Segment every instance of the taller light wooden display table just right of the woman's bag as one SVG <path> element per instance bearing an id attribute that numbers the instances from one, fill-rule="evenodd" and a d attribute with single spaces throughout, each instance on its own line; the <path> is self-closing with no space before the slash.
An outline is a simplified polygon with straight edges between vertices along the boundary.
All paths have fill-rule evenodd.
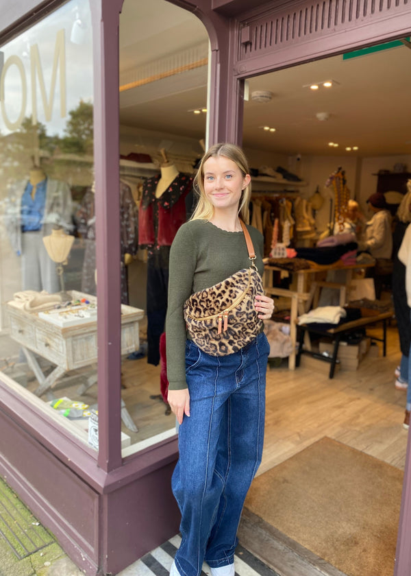
<path id="1" fill-rule="evenodd" d="M 277 267 L 272 264 L 264 265 L 263 285 L 266 294 L 270 294 L 271 296 L 282 296 L 284 298 L 291 299 L 290 337 L 292 341 L 292 353 L 288 357 L 288 368 L 290 368 L 290 370 L 295 370 L 295 359 L 297 354 L 297 317 L 305 312 L 308 312 L 311 309 L 313 303 L 314 307 L 316 307 L 316 302 L 319 298 L 319 291 L 321 287 L 325 286 L 338 289 L 340 291 L 340 306 L 345 306 L 349 293 L 349 285 L 353 278 L 353 271 L 361 268 L 370 268 L 373 266 L 374 264 L 345 265 L 342 261 L 339 260 L 332 264 L 326 265 L 312 262 L 310 263 L 309 268 L 294 271 L 282 267 Z M 345 283 L 327 282 L 326 280 L 318 279 L 320 273 L 323 274 L 329 270 L 347 270 Z M 284 289 L 273 286 L 273 271 L 296 274 L 296 289 Z M 308 289 L 308 280 L 310 280 L 310 289 Z"/>

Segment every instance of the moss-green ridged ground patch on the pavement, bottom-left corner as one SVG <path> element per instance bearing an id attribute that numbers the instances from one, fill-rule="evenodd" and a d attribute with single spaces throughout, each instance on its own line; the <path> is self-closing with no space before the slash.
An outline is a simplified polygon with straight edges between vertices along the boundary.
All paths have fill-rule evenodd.
<path id="1" fill-rule="evenodd" d="M 55 542 L 32 512 L 8 485 L 0 479 L 0 538 L 3 538 L 18 560 Z"/>

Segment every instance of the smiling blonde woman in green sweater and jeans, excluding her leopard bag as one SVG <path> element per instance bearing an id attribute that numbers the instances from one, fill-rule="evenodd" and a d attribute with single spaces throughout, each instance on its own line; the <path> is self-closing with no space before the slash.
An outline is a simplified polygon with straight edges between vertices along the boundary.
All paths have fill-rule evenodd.
<path id="1" fill-rule="evenodd" d="M 172 479 L 182 513 L 182 543 L 171 576 L 234 576 L 236 532 L 245 496 L 262 456 L 269 344 L 260 333 L 239 352 L 211 356 L 186 337 L 189 296 L 249 265 L 240 217 L 249 221 L 251 177 L 233 144 L 212 146 L 195 178 L 199 202 L 175 236 L 170 253 L 166 318 L 168 400 L 179 422 L 179 461 Z M 262 274 L 263 237 L 247 226 Z M 261 320 L 274 304 L 254 302 Z"/>

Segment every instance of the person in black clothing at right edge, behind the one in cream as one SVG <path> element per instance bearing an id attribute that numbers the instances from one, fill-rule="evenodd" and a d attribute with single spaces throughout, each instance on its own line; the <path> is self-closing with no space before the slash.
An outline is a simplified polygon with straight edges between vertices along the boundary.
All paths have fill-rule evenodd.
<path id="1" fill-rule="evenodd" d="M 411 188 L 411 180 L 408 180 Z M 395 387 L 399 390 L 408 388 L 408 356 L 411 344 L 411 322 L 410 307 L 407 302 L 406 292 L 406 267 L 398 257 L 399 248 L 403 237 L 411 222 L 411 191 L 403 197 L 397 211 L 397 224 L 393 232 L 393 302 L 397 328 L 399 335 L 399 346 L 401 348 L 401 362 L 395 370 Z"/>

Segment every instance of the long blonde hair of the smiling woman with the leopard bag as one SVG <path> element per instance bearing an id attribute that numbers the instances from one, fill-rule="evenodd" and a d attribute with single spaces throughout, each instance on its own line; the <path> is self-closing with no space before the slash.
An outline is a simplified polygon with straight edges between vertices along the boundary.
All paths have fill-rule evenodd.
<path id="1" fill-rule="evenodd" d="M 194 213 L 192 214 L 191 220 L 210 220 L 212 215 L 214 214 L 214 206 L 212 202 L 206 195 L 206 191 L 204 190 L 204 163 L 211 157 L 219 158 L 219 156 L 224 156 L 224 158 L 228 158 L 232 160 L 242 173 L 242 177 L 244 178 L 247 174 L 249 174 L 249 166 L 247 162 L 247 158 L 245 157 L 244 152 L 242 149 L 235 144 L 223 143 L 223 144 L 214 144 L 214 146 L 210 147 L 206 154 L 204 154 L 203 158 L 201 159 L 201 163 L 199 165 L 199 169 L 194 179 L 194 189 L 197 195 L 199 196 L 199 200 L 197 206 L 195 208 Z M 240 215 L 242 221 L 245 224 L 249 224 L 249 202 L 251 198 L 251 183 L 248 184 L 247 187 L 242 191 L 240 202 L 238 204 L 238 214 Z"/>

